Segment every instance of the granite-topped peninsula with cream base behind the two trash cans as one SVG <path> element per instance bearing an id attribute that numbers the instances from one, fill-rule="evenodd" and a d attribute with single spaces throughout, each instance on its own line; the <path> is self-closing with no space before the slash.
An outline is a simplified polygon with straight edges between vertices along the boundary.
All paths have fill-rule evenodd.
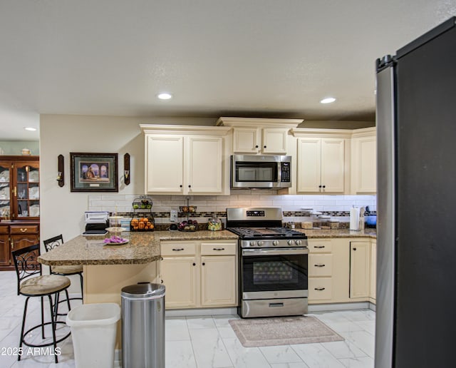
<path id="1" fill-rule="evenodd" d="M 128 235 L 125 235 L 128 234 Z M 185 240 L 237 240 L 237 235 L 222 231 L 127 232 L 128 243 L 105 245 L 104 236 L 77 237 L 43 253 L 43 265 L 83 265 L 84 303 L 115 302 L 120 305 L 123 287 L 138 282 L 160 283 L 160 242 Z M 117 347 L 121 346 L 118 322 Z"/>

